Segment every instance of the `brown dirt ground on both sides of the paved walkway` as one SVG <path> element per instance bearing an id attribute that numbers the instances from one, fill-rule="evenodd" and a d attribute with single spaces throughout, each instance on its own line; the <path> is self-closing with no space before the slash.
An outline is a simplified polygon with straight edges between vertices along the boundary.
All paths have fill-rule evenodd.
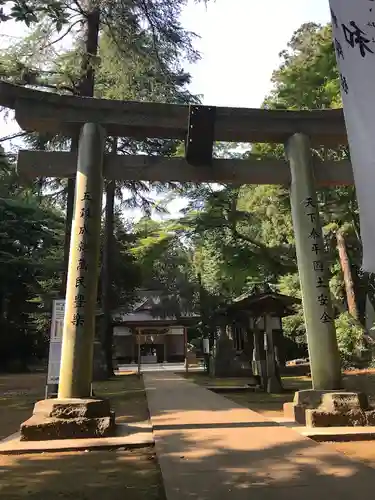
<path id="1" fill-rule="evenodd" d="M 213 385 L 211 378 L 192 373 L 189 378 Z M 346 375 L 350 386 L 375 398 L 375 372 Z M 283 379 L 281 395 L 242 392 L 227 395 L 232 401 L 270 418 L 282 415 L 282 406 L 294 392 L 308 388 L 307 377 Z M 217 379 L 217 385 L 242 385 L 246 379 Z M 45 375 L 0 375 L 0 439 L 16 432 L 32 412 L 34 402 L 43 398 Z M 122 375 L 96 383 L 97 396 L 111 399 L 118 421 L 148 419 L 143 383 L 135 375 Z M 375 468 L 375 441 L 325 443 L 352 459 Z M 162 478 L 153 449 L 113 450 L 39 455 L 0 456 L 0 498 L 7 500 L 165 500 Z"/>

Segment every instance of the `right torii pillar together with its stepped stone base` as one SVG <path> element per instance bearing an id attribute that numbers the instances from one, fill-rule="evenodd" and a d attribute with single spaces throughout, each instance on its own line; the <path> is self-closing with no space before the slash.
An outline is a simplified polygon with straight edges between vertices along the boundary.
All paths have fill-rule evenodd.
<path id="1" fill-rule="evenodd" d="M 309 427 L 369 425 L 372 412 L 361 393 L 342 390 L 341 363 L 329 290 L 310 140 L 294 134 L 286 144 L 298 272 L 309 347 L 312 390 L 284 405 L 287 418 Z"/>

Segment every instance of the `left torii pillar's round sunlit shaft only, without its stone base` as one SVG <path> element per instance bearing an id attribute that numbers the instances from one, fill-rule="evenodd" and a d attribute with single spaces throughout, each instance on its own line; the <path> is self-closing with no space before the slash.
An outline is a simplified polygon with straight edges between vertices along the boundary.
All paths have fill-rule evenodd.
<path id="1" fill-rule="evenodd" d="M 91 394 L 103 194 L 104 130 L 86 123 L 78 149 L 59 398 Z"/>

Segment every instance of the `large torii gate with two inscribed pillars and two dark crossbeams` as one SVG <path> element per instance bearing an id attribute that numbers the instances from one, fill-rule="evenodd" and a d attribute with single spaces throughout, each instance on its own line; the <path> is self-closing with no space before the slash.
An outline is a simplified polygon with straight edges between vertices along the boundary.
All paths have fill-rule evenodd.
<path id="1" fill-rule="evenodd" d="M 316 187 L 351 185 L 353 175 L 348 161 L 317 162 L 310 148 L 347 144 L 342 110 L 273 111 L 110 101 L 45 93 L 3 82 L 0 105 L 15 110 L 25 131 L 68 137 L 80 133 L 78 154 L 20 151 L 18 155 L 22 176 L 77 176 L 58 399 L 36 404 L 33 417 L 21 427 L 23 439 L 113 432 L 108 405 L 90 399 L 103 177 L 289 186 L 313 399 L 322 391 L 341 389 Z M 105 154 L 106 136 L 181 139 L 186 141 L 186 156 Z M 286 160 L 255 156 L 212 159 L 214 141 L 282 143 Z M 62 429 L 68 429 L 64 425 L 67 419 L 71 426 L 61 436 Z"/>

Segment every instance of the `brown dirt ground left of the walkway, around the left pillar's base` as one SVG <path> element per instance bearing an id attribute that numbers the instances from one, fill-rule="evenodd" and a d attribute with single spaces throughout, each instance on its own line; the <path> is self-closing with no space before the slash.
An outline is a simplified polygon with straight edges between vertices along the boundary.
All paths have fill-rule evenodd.
<path id="1" fill-rule="evenodd" d="M 0 375 L 0 436 L 17 432 L 44 395 L 44 374 Z M 111 400 L 119 422 L 148 419 L 143 382 L 121 375 L 94 384 L 96 396 Z M 165 500 L 153 449 L 0 455 L 0 498 L 4 500 Z"/>

